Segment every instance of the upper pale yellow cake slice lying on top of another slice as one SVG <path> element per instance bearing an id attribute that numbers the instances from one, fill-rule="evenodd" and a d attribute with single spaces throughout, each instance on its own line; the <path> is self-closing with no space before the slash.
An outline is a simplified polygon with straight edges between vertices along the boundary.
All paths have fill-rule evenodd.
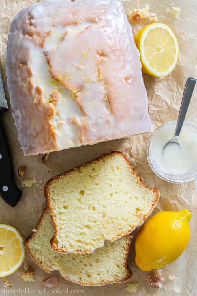
<path id="1" fill-rule="evenodd" d="M 111 152 L 49 180 L 45 196 L 57 252 L 89 253 L 144 222 L 159 192 L 149 189 L 122 152 Z"/>

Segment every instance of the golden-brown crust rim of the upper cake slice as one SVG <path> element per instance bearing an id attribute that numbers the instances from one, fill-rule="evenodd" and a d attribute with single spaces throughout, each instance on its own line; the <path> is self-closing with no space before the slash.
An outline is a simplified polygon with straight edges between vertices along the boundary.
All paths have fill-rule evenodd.
<path id="1" fill-rule="evenodd" d="M 137 227 L 141 226 L 141 224 L 144 223 L 144 220 L 152 213 L 152 211 L 154 210 L 154 207 L 157 205 L 157 202 L 159 200 L 159 190 L 157 188 L 149 188 L 143 181 L 143 179 L 139 176 L 139 174 L 136 172 L 136 170 L 133 168 L 133 166 L 131 165 L 131 163 L 129 162 L 128 158 L 126 157 L 126 155 L 121 152 L 121 151 L 112 151 L 108 154 L 105 154 L 101 157 L 98 157 L 94 160 L 91 160 L 83 165 L 79 165 L 77 166 L 76 168 L 73 168 L 71 170 L 68 170 L 64 173 L 61 173 L 59 174 L 58 176 L 55 176 L 53 178 L 51 178 L 50 180 L 48 180 L 48 182 L 45 184 L 45 188 L 44 188 L 44 194 L 45 194 L 45 197 L 46 197 L 46 201 L 47 201 L 47 204 L 48 204 L 48 207 L 49 207 L 49 211 L 51 213 L 51 219 L 52 219 L 52 222 L 53 222 L 53 226 L 54 226 L 54 229 L 55 229 L 55 235 L 54 237 L 51 238 L 51 248 L 55 251 L 55 252 L 58 252 L 58 253 L 68 253 L 70 252 L 70 250 L 63 250 L 62 247 L 58 247 L 57 244 L 58 244 L 58 240 L 56 239 L 56 234 L 57 234 L 57 227 L 56 227 L 56 222 L 55 222 L 55 218 L 53 217 L 53 210 L 51 208 L 51 203 L 50 203 L 50 196 L 49 196 L 49 186 L 51 185 L 51 183 L 54 181 L 54 180 L 58 180 L 59 178 L 62 178 L 64 176 L 68 176 L 72 173 L 74 173 L 76 170 L 79 170 L 79 169 L 82 169 L 84 168 L 86 165 L 89 165 L 91 163 L 96 163 L 98 160 L 100 159 L 105 159 L 107 158 L 108 156 L 110 155 L 120 155 L 122 157 L 124 157 L 124 159 L 126 160 L 127 164 L 129 165 L 129 167 L 131 168 L 131 171 L 133 174 L 136 175 L 136 177 L 138 178 L 140 184 L 144 187 L 146 187 L 147 189 L 149 189 L 150 191 L 152 191 L 154 193 L 154 200 L 153 200 L 153 203 L 152 203 L 152 207 L 150 208 L 150 211 L 144 215 L 144 219 L 141 221 L 141 223 L 139 223 L 138 225 L 136 225 L 135 227 L 132 227 L 131 229 L 128 229 L 128 231 L 125 231 L 122 234 L 120 234 L 119 236 L 116 236 L 114 237 L 111 241 L 115 241 L 116 239 L 124 236 L 124 235 L 127 235 L 129 233 L 131 233 L 134 229 L 136 229 Z M 72 251 L 72 253 L 80 253 L 80 254 L 84 254 L 84 253 L 88 253 L 88 254 L 91 254 L 92 252 L 90 252 L 90 250 L 85 250 L 85 251 L 81 251 L 81 250 L 77 250 L 76 252 Z"/>

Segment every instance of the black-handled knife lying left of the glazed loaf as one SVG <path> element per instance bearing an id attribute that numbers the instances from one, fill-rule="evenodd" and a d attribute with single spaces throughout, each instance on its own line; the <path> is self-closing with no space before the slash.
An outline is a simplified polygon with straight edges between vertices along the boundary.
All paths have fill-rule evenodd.
<path id="1" fill-rule="evenodd" d="M 0 73 L 0 195 L 4 202 L 15 207 L 21 199 L 22 191 L 15 183 L 12 155 L 3 123 L 3 114 L 8 110 Z"/>

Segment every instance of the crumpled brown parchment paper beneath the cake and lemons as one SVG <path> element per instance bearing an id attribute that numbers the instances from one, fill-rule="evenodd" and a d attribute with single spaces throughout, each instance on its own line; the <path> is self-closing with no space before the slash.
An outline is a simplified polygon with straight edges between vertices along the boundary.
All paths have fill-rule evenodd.
<path id="1" fill-rule="evenodd" d="M 1 73 L 6 88 L 6 97 L 9 99 L 7 86 L 6 86 L 6 43 L 7 33 L 9 31 L 10 22 L 12 18 L 23 7 L 35 3 L 36 0 L 1 0 L 0 1 L 0 59 L 1 59 Z M 39 2 L 39 1 L 37 1 Z M 129 9 L 144 6 L 150 4 L 151 12 L 158 14 L 159 22 L 164 22 L 170 25 L 175 35 L 177 36 L 180 46 L 180 58 L 175 70 L 169 76 L 165 78 L 154 78 L 144 74 L 144 83 L 146 86 L 148 100 L 149 100 L 149 113 L 152 119 L 153 128 L 157 128 L 160 124 L 175 120 L 178 116 L 178 110 L 183 94 L 186 78 L 196 75 L 196 53 L 197 53 L 197 33 L 196 33 L 196 13 L 197 3 L 193 0 L 181 0 L 174 1 L 174 6 L 181 8 L 179 20 L 175 20 L 173 16 L 166 14 L 166 8 L 170 7 L 172 0 L 145 0 L 140 1 L 122 1 L 123 6 L 128 13 Z M 132 24 L 133 34 L 135 34 L 144 25 L 147 25 L 149 21 L 140 21 L 137 24 Z M 191 104 L 188 110 L 187 120 L 194 124 L 197 124 L 197 88 Z M 11 112 L 4 115 L 5 126 L 9 135 L 10 146 L 12 149 L 12 155 L 14 159 L 14 169 L 16 173 L 16 180 L 18 186 L 20 186 L 20 180 L 17 175 L 18 168 L 20 166 L 27 166 L 25 178 L 36 178 L 40 186 L 33 186 L 32 188 L 23 189 L 23 196 L 21 202 L 15 207 L 11 208 L 0 200 L 0 223 L 6 223 L 16 227 L 23 237 L 26 238 L 32 233 L 32 229 L 38 222 L 38 219 L 42 213 L 45 197 L 43 194 L 43 188 L 46 181 L 62 173 L 66 170 L 81 165 L 89 160 L 104 155 L 111 150 L 123 151 L 130 160 L 133 167 L 138 171 L 141 177 L 149 187 L 157 187 L 160 192 L 159 203 L 156 206 L 153 214 L 163 210 L 180 210 L 189 208 L 192 212 L 191 226 L 191 239 L 188 247 L 183 254 L 169 266 L 162 268 L 162 274 L 165 278 L 163 287 L 161 289 L 155 289 L 149 287 L 146 276 L 147 272 L 141 271 L 134 263 L 134 249 L 133 244 L 136 233 L 139 229 L 133 232 L 133 239 L 131 244 L 131 252 L 129 256 L 129 266 L 133 271 L 133 277 L 125 283 L 112 284 L 102 287 L 82 287 L 78 284 L 73 284 L 63 279 L 58 271 L 54 271 L 51 274 L 58 276 L 58 285 L 53 290 L 64 289 L 64 295 L 72 293 L 71 289 L 83 289 L 85 296 L 94 295 L 113 295 L 113 296 L 126 296 L 130 295 L 125 290 L 125 287 L 130 282 L 138 282 L 138 288 L 136 296 L 153 296 L 153 295 L 191 295 L 197 294 L 197 198 L 195 192 L 194 182 L 190 182 L 182 185 L 170 184 L 159 179 L 149 168 L 146 160 L 146 144 L 151 133 L 132 136 L 127 139 L 115 140 L 111 142 L 100 143 L 96 145 L 88 145 L 80 148 L 71 148 L 61 152 L 51 153 L 48 161 L 44 165 L 41 161 L 41 155 L 39 156 L 23 156 L 19 142 L 17 140 L 17 131 L 14 126 L 14 120 Z M 0 168 L 2 169 L 2 168 Z M 21 276 L 15 272 L 7 278 L 12 281 L 12 289 L 43 289 L 41 281 L 51 275 L 45 273 L 40 267 L 34 263 L 28 254 L 26 254 L 25 261 L 35 271 L 35 282 L 29 283 L 23 281 Z M 19 268 L 22 271 L 24 264 Z M 175 275 L 177 280 L 170 281 L 168 275 Z M 0 295 L 4 295 L 5 292 L 1 290 L 2 284 L 0 281 Z M 178 287 L 181 289 L 179 294 L 176 294 L 172 289 Z M 11 288 L 8 288 L 11 289 Z M 41 295 L 41 292 L 26 290 L 26 294 Z M 25 294 L 23 292 L 23 295 Z M 56 295 L 56 291 L 51 295 Z M 78 292 L 79 294 L 80 292 Z M 13 293 L 12 293 L 13 294 Z M 22 295 L 22 292 L 18 290 L 15 295 Z M 134 295 L 134 294 L 132 294 Z"/>

